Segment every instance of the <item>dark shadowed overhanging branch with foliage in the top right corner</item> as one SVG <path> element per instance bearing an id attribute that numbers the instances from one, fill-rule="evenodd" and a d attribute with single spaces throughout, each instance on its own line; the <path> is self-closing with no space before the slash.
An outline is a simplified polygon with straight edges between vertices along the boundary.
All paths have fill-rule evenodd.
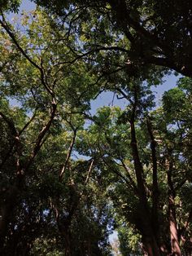
<path id="1" fill-rule="evenodd" d="M 97 48 L 101 33 L 105 38 L 111 37 L 111 30 L 107 29 L 107 23 L 110 23 L 113 33 L 123 34 L 128 40 L 121 51 L 127 51 L 129 65 L 138 64 L 141 68 L 146 64 L 155 64 L 191 77 L 190 0 L 186 0 L 185 4 L 181 0 L 35 2 L 64 19 L 72 13 L 71 20 L 79 19 L 78 23 L 87 21 L 88 17 L 88 24 L 94 21 L 92 50 L 95 46 Z M 102 46 L 106 44 L 107 39 Z M 111 42 L 111 46 L 114 45 L 116 42 Z"/>

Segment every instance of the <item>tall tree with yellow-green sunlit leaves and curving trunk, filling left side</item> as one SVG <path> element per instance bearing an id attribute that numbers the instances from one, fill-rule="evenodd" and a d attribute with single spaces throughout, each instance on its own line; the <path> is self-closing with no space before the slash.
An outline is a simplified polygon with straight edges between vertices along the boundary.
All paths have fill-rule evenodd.
<path id="1" fill-rule="evenodd" d="M 104 201 L 94 200 L 97 184 L 88 184 L 93 160 L 72 159 L 76 133 L 98 90 L 91 66 L 73 64 L 68 42 L 74 38 L 63 47 L 60 33 L 68 29 L 52 29 L 41 10 L 24 13 L 18 27 L 3 13 L 0 23 L 1 254 L 28 255 L 38 245 L 47 251 L 51 241 L 53 252 L 105 255 L 111 218 Z"/>

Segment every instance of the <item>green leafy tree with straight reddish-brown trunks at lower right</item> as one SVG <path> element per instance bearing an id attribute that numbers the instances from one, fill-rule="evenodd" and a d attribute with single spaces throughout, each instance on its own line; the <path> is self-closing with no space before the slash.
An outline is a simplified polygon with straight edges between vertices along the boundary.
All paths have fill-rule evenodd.
<path id="1" fill-rule="evenodd" d="M 90 138 L 89 147 L 93 144 L 88 155 L 101 157 L 103 179 L 112 184 L 110 196 L 119 219 L 124 219 L 127 234 L 132 227 L 142 236 L 140 243 L 146 254 L 188 255 L 190 247 L 185 251 L 182 234 L 186 226 L 186 233 L 190 232 L 186 223 L 191 214 L 181 205 L 185 205 L 182 195 L 189 189 L 191 170 L 181 138 L 190 139 L 183 105 L 188 109 L 191 105 L 190 91 L 186 90 L 190 81 L 185 84 L 181 79 L 178 88 L 164 95 L 164 108 L 154 112 L 149 112 L 153 102 L 150 90 L 137 82 L 134 79 L 121 91 L 129 101 L 124 111 L 109 107 L 99 110 L 94 126 L 85 135 L 86 141 L 86 136 Z M 82 150 L 86 153 L 88 148 Z"/>

